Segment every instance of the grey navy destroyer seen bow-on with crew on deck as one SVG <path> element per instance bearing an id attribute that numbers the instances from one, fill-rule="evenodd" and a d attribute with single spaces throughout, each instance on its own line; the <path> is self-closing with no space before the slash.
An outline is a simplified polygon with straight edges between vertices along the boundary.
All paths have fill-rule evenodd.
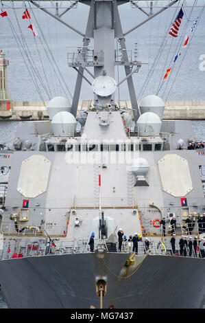
<path id="1" fill-rule="evenodd" d="M 62 22 L 78 1 L 56 15 L 28 2 Z M 119 16 L 129 1 L 80 2 L 90 8 L 86 32 L 63 21 L 83 38 L 68 55 L 73 101 L 52 98 L 49 120 L 20 122 L 12 148 L 1 145 L 1 173 L 10 174 L 0 197 L 5 301 L 16 309 L 203 308 L 204 145 L 191 121 L 162 119 L 159 96 L 138 106 L 132 76 L 142 63 L 128 55 L 125 36 L 142 23 L 123 32 Z M 149 12 L 130 2 L 143 23 L 180 10 L 178 0 L 155 13 L 152 1 Z M 77 111 L 83 79 L 94 99 Z M 130 107 L 114 97 L 122 82 Z"/>

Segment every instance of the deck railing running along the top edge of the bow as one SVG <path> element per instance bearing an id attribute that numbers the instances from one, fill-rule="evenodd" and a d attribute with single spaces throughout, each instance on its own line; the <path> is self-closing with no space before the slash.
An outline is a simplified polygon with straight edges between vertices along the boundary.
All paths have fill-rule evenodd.
<path id="1" fill-rule="evenodd" d="M 0 259 L 10 258 L 25 258 L 34 256 L 53 256 L 64 254 L 85 254 L 91 253 L 90 246 L 88 245 L 89 238 L 74 239 L 67 241 L 60 241 L 60 239 L 39 239 L 38 241 L 22 240 L 16 241 L 16 243 L 4 245 L 0 250 Z M 99 249 L 109 252 L 106 239 L 95 239 L 94 252 Z M 118 243 L 116 244 L 116 250 L 119 252 Z M 121 253 L 129 254 L 132 252 L 132 245 L 128 241 L 123 241 Z M 149 248 L 146 249 L 145 242 L 138 242 L 138 255 L 141 254 L 150 255 L 163 255 L 163 256 L 187 256 L 187 257 L 200 257 L 205 259 L 205 250 L 198 248 L 195 250 L 193 247 L 191 250 L 189 247 L 184 246 L 183 251 L 180 252 L 180 246 L 176 243 L 176 250 L 173 253 L 173 249 L 170 243 L 162 243 L 151 241 Z"/>

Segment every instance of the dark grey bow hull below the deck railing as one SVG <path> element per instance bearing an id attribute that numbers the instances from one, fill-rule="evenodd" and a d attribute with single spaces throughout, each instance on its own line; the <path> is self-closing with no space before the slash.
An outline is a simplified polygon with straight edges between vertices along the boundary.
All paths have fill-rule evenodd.
<path id="1" fill-rule="evenodd" d="M 1 260 L 9 308 L 99 308 L 96 278 L 106 276 L 104 309 L 200 309 L 205 306 L 204 259 L 147 256 L 129 278 L 119 278 L 127 254 L 70 254 Z M 105 265 L 106 264 L 106 265 Z M 132 275 L 131 275 L 132 274 Z"/>

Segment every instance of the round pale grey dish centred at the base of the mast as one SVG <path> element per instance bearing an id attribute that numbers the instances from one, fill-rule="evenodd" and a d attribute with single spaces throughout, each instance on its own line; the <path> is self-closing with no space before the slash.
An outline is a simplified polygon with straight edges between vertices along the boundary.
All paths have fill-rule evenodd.
<path id="1" fill-rule="evenodd" d="M 97 96 L 111 96 L 117 89 L 114 78 L 107 75 L 98 76 L 92 83 L 92 89 Z"/>

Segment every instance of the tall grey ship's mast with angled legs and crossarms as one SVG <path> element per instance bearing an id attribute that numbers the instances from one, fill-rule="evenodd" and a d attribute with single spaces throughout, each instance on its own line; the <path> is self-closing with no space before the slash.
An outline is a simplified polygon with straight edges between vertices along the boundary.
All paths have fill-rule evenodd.
<path id="1" fill-rule="evenodd" d="M 77 71 L 77 80 L 75 82 L 75 91 L 73 95 L 71 113 L 73 113 L 73 115 L 76 117 L 77 106 L 80 100 L 82 79 L 84 78 L 88 82 L 88 84 L 91 85 L 91 82 L 84 76 L 84 71 L 87 71 L 88 74 L 90 74 L 90 76 L 92 76 L 93 78 L 97 78 L 103 73 L 106 73 L 107 76 L 110 76 L 111 78 L 115 79 L 115 67 L 123 66 L 125 69 L 125 78 L 121 82 L 124 82 L 126 80 L 128 84 L 134 121 L 136 122 L 140 115 L 140 112 L 138 109 L 136 92 L 134 89 L 134 82 L 132 76 L 134 72 L 137 72 L 138 69 L 141 67 L 141 63 L 135 59 L 132 60 L 132 57 L 130 58 L 128 56 L 128 52 L 125 46 L 125 36 L 136 30 L 144 23 L 147 23 L 147 21 L 154 18 L 156 15 L 167 10 L 167 8 L 170 8 L 172 5 L 175 5 L 179 0 L 167 0 L 168 4 L 165 6 L 162 6 L 161 4 L 158 5 L 158 3 L 167 3 L 167 1 L 156 1 L 156 8 L 160 8 L 160 10 L 158 10 L 155 13 L 153 12 L 153 1 L 141 1 L 146 5 L 142 8 L 142 6 L 140 7 L 138 5 L 138 1 L 133 0 L 75 0 L 71 1 L 71 5 L 69 5 L 61 13 L 59 12 L 58 5 L 56 5 L 54 8 L 54 10 L 56 10 L 55 14 L 51 13 L 50 10 L 43 8 L 42 3 L 47 0 L 40 1 L 40 4 L 36 3 L 36 1 L 34 0 L 28 1 L 40 10 L 43 10 L 43 12 L 45 12 L 46 14 L 52 16 L 53 19 L 58 20 L 60 23 L 66 25 L 71 30 L 73 30 L 73 32 L 76 32 L 77 34 L 80 34 L 83 37 L 83 46 L 80 52 L 69 53 L 72 54 L 72 59 L 68 59 L 69 66 L 73 67 L 73 69 Z M 78 2 L 84 3 L 85 5 L 88 5 L 90 7 L 88 21 L 86 25 L 86 32 L 82 32 L 79 29 L 67 23 L 67 21 L 62 20 L 62 16 L 69 10 L 76 8 Z M 123 5 L 124 3 L 130 3 L 132 5 L 132 8 L 141 10 L 141 12 L 143 12 L 146 15 L 146 19 L 144 21 L 138 23 L 138 25 L 135 25 L 126 32 L 123 32 L 118 10 L 119 5 Z M 145 8 L 148 8 L 149 12 L 147 12 Z M 94 45 L 93 54 L 91 54 L 91 49 L 88 48 L 91 39 L 93 39 Z M 116 52 L 114 47 L 115 39 L 117 39 L 120 44 L 120 55 Z M 80 56 L 81 59 L 79 60 Z M 93 74 L 88 70 L 89 67 L 92 67 L 94 69 Z M 133 67 L 135 68 L 134 71 L 132 71 Z M 121 82 L 119 82 L 119 85 L 121 84 Z M 96 95 L 94 95 L 94 101 L 95 105 L 97 105 L 98 99 Z M 114 93 L 112 93 L 112 96 L 110 98 L 110 105 L 115 106 Z"/>

